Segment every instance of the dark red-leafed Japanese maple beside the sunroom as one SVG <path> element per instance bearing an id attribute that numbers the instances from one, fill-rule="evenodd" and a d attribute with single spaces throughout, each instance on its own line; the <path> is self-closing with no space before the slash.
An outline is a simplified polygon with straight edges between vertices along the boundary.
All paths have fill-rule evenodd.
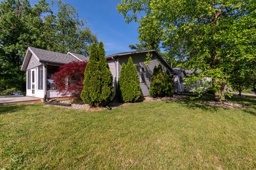
<path id="1" fill-rule="evenodd" d="M 54 73 L 54 83 L 61 96 L 80 98 L 84 84 L 84 70 L 87 62 L 71 62 L 60 66 L 60 71 Z"/>

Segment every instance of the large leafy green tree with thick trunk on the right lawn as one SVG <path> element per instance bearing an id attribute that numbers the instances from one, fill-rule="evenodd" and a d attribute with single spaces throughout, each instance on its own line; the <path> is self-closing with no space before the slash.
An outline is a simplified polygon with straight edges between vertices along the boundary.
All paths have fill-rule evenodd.
<path id="1" fill-rule="evenodd" d="M 141 43 L 158 43 L 170 57 L 185 61 L 183 68 L 202 70 L 191 74 L 187 83 L 212 78 L 217 101 L 225 100 L 237 62 L 255 69 L 255 8 L 254 0 L 122 0 L 117 6 L 126 22 L 139 23 Z"/>

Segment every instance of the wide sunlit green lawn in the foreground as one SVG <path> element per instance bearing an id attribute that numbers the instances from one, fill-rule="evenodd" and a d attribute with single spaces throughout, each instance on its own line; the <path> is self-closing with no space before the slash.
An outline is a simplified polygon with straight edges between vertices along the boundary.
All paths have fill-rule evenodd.
<path id="1" fill-rule="evenodd" d="M 249 107 L 0 105 L 0 169 L 255 169 L 256 98 L 231 100 Z"/>

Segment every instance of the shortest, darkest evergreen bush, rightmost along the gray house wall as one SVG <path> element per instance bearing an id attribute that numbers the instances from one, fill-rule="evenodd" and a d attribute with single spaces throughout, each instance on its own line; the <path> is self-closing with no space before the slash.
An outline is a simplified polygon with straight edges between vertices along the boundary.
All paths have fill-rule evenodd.
<path id="1" fill-rule="evenodd" d="M 154 67 L 150 79 L 149 94 L 151 97 L 164 97 L 173 95 L 173 82 L 169 71 L 163 72 L 161 64 Z"/>

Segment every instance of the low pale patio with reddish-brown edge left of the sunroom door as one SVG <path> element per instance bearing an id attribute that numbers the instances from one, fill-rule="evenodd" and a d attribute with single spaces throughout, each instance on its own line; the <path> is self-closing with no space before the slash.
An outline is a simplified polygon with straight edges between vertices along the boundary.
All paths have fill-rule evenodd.
<path id="1" fill-rule="evenodd" d="M 0 104 L 22 104 L 22 103 L 39 103 L 40 99 L 36 97 L 3 97 L 0 98 Z"/>

